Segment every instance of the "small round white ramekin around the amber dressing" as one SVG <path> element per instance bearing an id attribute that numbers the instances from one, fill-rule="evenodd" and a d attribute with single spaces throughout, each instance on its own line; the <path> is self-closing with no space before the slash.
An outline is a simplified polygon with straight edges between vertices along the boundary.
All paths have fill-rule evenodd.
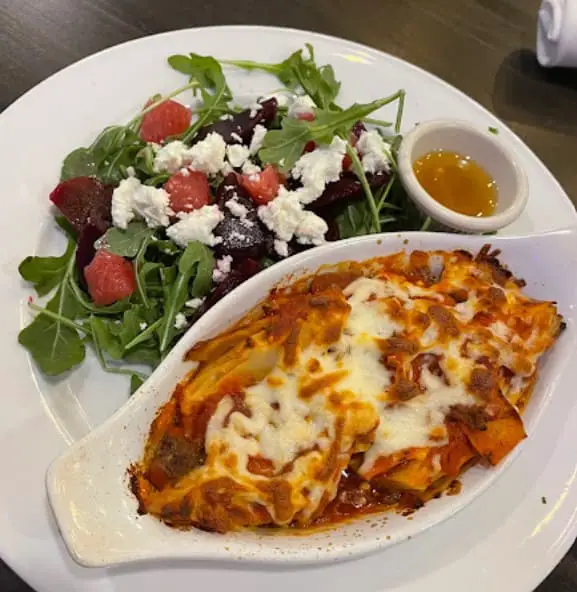
<path id="1" fill-rule="evenodd" d="M 459 214 L 425 191 L 413 171 L 413 163 L 433 150 L 469 156 L 487 171 L 497 184 L 498 201 L 493 214 Z M 460 232 L 495 232 L 514 222 L 527 203 L 527 176 L 515 157 L 488 129 L 464 121 L 439 119 L 418 124 L 403 138 L 397 164 L 401 181 L 417 207 L 436 222 Z"/>

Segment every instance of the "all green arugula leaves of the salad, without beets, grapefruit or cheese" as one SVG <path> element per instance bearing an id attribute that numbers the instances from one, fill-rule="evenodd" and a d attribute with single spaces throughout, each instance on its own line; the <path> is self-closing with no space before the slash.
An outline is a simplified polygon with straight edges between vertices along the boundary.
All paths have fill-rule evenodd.
<path id="1" fill-rule="evenodd" d="M 341 238 L 430 227 L 431 221 L 423 218 L 397 181 L 395 163 L 402 139 L 403 90 L 342 108 L 336 102 L 341 83 L 332 66 L 316 63 L 310 44 L 279 63 L 219 62 L 210 56 L 190 53 L 170 56 L 168 64 L 187 76 L 188 83 L 167 95 L 152 97 L 126 125 L 107 127 L 88 147 L 70 152 L 62 163 L 62 181 L 92 176 L 118 185 L 130 172 L 145 185 L 162 186 L 170 175 L 155 170 L 156 147 L 139 136 L 142 118 L 164 101 L 190 91 L 198 103 L 192 107 L 192 123 L 179 138 L 172 138 L 190 145 L 201 128 L 238 112 L 231 106 L 233 94 L 223 73 L 224 64 L 268 72 L 278 78 L 284 91 L 304 93 L 314 102 L 312 121 L 288 117 L 286 109 L 279 108 L 277 119 L 254 157 L 258 164 L 274 164 L 288 173 L 308 143 L 329 144 L 335 136 L 347 143 L 351 169 L 361 183 L 365 199 L 348 203 L 336 217 Z M 394 121 L 379 119 L 375 112 L 392 103 L 397 105 Z M 389 144 L 391 177 L 379 190 L 371 188 L 370 178 L 351 144 L 352 129 L 359 121 L 376 126 Z M 496 133 L 493 128 L 490 131 Z M 214 187 L 220 179 L 219 176 L 214 180 Z M 65 219 L 57 217 L 56 222 L 68 240 L 64 252 L 59 256 L 26 257 L 19 266 L 22 278 L 31 283 L 39 298 L 47 297 L 48 301 L 44 307 L 30 301 L 35 316 L 20 332 L 19 342 L 49 376 L 58 376 L 81 364 L 86 348 L 90 347 L 104 371 L 130 377 L 133 392 L 146 379 L 146 371 L 160 363 L 198 317 L 199 313 L 187 302 L 205 297 L 213 289 L 213 252 L 196 241 L 183 249 L 167 238 L 164 229 L 148 228 L 139 219 L 124 230 L 109 228 L 97 247 L 131 262 L 136 290 L 129 298 L 98 306 L 87 293 L 76 266 L 77 237 Z M 274 259 L 261 258 L 262 267 L 273 264 Z"/>

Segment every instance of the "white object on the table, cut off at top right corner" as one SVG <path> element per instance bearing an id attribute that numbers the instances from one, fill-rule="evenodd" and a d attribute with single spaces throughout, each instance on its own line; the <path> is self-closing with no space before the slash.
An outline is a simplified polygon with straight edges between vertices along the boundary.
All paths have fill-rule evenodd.
<path id="1" fill-rule="evenodd" d="M 543 0 L 537 24 L 542 66 L 577 68 L 577 0 Z"/>

